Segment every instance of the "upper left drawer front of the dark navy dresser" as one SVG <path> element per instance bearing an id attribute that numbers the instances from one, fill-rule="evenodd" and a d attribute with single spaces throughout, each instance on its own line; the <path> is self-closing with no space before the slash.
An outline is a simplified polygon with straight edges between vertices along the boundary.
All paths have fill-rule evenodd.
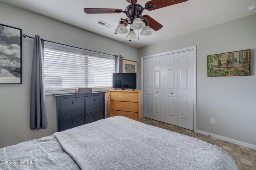
<path id="1" fill-rule="evenodd" d="M 60 119 L 84 114 L 84 97 L 60 99 Z"/>

